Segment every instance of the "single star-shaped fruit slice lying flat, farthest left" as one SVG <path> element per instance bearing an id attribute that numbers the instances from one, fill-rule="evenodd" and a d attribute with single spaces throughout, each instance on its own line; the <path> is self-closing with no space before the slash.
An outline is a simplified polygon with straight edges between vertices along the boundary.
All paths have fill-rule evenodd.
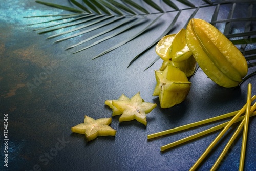
<path id="1" fill-rule="evenodd" d="M 84 116 L 84 123 L 71 127 L 74 133 L 85 134 L 88 141 L 95 139 L 97 136 L 115 136 L 116 130 L 109 126 L 112 118 L 93 119 Z"/>

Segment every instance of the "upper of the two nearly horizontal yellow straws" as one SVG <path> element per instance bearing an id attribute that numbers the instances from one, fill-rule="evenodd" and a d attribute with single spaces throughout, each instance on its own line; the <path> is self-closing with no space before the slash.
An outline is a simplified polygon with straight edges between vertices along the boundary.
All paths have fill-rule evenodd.
<path id="1" fill-rule="evenodd" d="M 256 95 L 254 95 L 251 98 L 251 101 L 254 101 L 255 99 L 256 99 Z M 243 108 L 246 108 L 246 105 L 244 105 Z M 186 125 L 183 125 L 183 126 L 175 127 L 173 129 L 169 129 L 169 130 L 161 131 L 161 132 L 158 132 L 158 133 L 150 134 L 150 135 L 147 135 L 147 139 L 156 138 L 156 137 L 164 136 L 164 135 L 167 135 L 167 134 L 176 133 L 176 132 L 179 132 L 179 131 L 190 129 L 192 127 L 196 127 L 196 126 L 200 126 L 200 125 L 203 125 L 203 124 L 206 124 L 206 123 L 210 123 L 210 122 L 218 121 L 218 120 L 221 120 L 221 119 L 225 119 L 225 118 L 236 115 L 238 112 L 239 111 L 234 111 L 234 112 L 230 112 L 230 113 L 220 115 L 220 116 L 216 116 L 216 117 L 213 117 L 213 118 L 209 118 L 209 119 L 201 120 L 201 121 L 198 121 L 198 122 L 189 123 L 189 124 L 186 124 Z"/>

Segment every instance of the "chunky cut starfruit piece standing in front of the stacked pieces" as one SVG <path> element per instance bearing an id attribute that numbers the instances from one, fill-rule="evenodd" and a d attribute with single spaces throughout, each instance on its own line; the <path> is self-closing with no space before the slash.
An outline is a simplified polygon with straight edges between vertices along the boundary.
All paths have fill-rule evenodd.
<path id="1" fill-rule="evenodd" d="M 164 71 L 155 71 L 156 87 L 153 95 L 159 95 L 161 108 L 170 108 L 184 101 L 191 82 L 179 68 L 168 65 Z"/>

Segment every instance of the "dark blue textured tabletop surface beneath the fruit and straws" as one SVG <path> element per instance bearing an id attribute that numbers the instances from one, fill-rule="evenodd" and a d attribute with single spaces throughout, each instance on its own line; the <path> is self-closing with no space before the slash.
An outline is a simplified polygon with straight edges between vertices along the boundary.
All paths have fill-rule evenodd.
<path id="1" fill-rule="evenodd" d="M 68 1 L 63 2 L 63 5 L 69 5 Z M 225 17 L 229 8 L 228 4 L 221 6 L 219 17 Z M 237 8 L 242 15 L 247 6 L 239 4 Z M 153 27 L 142 37 L 91 60 L 125 38 L 129 32 L 72 55 L 73 51 L 64 49 L 76 43 L 77 39 L 53 44 L 56 39 L 46 40 L 50 34 L 38 35 L 32 31 L 38 26 L 28 26 L 37 23 L 39 18 L 23 18 L 59 14 L 61 10 L 36 4 L 32 0 L 5 1 L 0 3 L 0 9 L 0 119 L 2 121 L 3 114 L 8 113 L 8 170 L 188 170 L 219 132 L 164 153 L 160 152 L 160 146 L 219 122 L 154 140 L 147 140 L 147 135 L 239 110 L 246 103 L 248 83 L 252 83 L 252 94 L 256 94 L 255 77 L 236 89 L 226 89 L 217 86 L 199 69 L 190 78 L 192 86 L 187 99 L 173 108 L 160 109 L 159 100 L 152 93 L 156 84 L 154 70 L 161 66 L 161 61 L 144 71 L 156 57 L 154 48 L 126 68 L 141 49 L 150 45 L 151 39 L 161 34 L 168 24 L 164 19 L 156 23 L 162 27 Z M 211 19 L 207 11 L 213 11 L 214 8 L 200 10 L 196 17 Z M 186 19 L 183 18 L 191 12 L 182 12 L 173 33 L 184 26 Z M 41 24 L 40 27 L 46 25 Z M 255 23 L 252 26 L 255 30 Z M 236 23 L 232 27 L 236 31 L 241 24 Z M 221 24 L 218 28 L 223 31 Z M 136 32 L 136 29 L 131 32 Z M 46 71 L 48 73 L 44 74 Z M 255 71 L 255 67 L 250 68 L 249 73 L 252 71 Z M 35 80 L 36 77 L 44 79 L 40 82 Z M 29 91 L 27 83 L 36 83 L 36 87 Z M 111 124 L 117 130 L 115 137 L 98 137 L 87 143 L 84 135 L 71 133 L 70 128 L 83 122 L 84 115 L 95 119 L 111 117 L 112 110 L 104 105 L 105 100 L 117 99 L 122 93 L 131 98 L 138 91 L 146 102 L 158 105 L 147 115 L 146 127 L 137 121 L 119 123 L 119 116 L 115 116 Z M 3 122 L 0 123 L 2 142 Z M 211 168 L 236 126 L 221 139 L 200 170 Z M 252 118 L 245 170 L 254 170 L 256 167 L 255 126 L 256 119 Z M 238 170 L 241 141 L 242 134 L 232 145 L 220 170 Z M 0 170 L 3 170 L 6 167 L 3 166 L 2 148 L 0 153 Z"/>

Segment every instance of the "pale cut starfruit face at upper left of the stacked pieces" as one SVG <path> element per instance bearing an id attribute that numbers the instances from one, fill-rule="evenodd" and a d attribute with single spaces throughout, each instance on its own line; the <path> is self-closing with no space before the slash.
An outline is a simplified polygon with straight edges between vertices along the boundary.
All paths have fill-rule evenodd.
<path id="1" fill-rule="evenodd" d="M 160 56 L 160 58 L 163 59 L 164 61 L 170 59 L 168 49 L 170 45 L 172 45 L 175 35 L 176 34 L 169 34 L 162 37 L 156 45 L 155 51 Z"/>

